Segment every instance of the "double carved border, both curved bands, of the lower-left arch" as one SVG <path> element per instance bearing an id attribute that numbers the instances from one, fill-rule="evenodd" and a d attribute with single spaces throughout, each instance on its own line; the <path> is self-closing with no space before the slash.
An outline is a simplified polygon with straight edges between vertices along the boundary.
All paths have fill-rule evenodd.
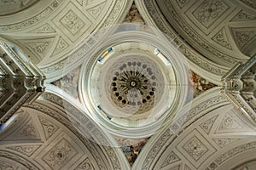
<path id="1" fill-rule="evenodd" d="M 100 141 L 100 144 L 105 145 L 102 145 L 100 147 L 102 150 L 106 150 L 106 153 L 108 153 L 107 160 L 109 161 L 109 165 L 111 165 L 111 167 L 113 167 L 114 169 L 120 169 L 121 167 L 129 166 L 125 160 L 125 156 L 122 155 L 121 150 L 114 149 L 108 146 L 110 145 L 108 139 L 109 136 L 107 137 L 106 134 L 102 132 L 100 127 L 96 127 L 97 125 L 95 124 L 95 122 L 91 120 L 90 117 L 85 116 L 79 106 L 74 106 L 72 103 L 66 100 L 67 98 L 65 98 L 65 95 L 64 99 L 59 97 L 59 95 L 60 94 L 56 95 L 45 92 L 40 97 L 41 99 L 38 99 L 32 105 L 26 105 L 26 107 L 44 112 L 45 114 L 52 116 L 53 118 L 55 118 L 55 120 L 58 120 L 71 132 L 73 132 L 83 142 L 84 146 L 86 146 L 87 149 L 90 150 L 90 153 L 98 153 L 92 154 L 92 156 L 94 156 L 100 169 L 106 169 L 108 167 L 108 164 L 106 164 L 106 162 L 102 160 L 102 157 L 100 157 L 102 154 L 97 151 L 95 146 L 96 144 L 93 144 L 96 141 Z M 54 108 L 56 108 L 56 106 L 57 108 L 61 109 L 58 111 L 61 114 L 55 114 Z M 72 114 L 70 114 L 71 111 Z M 81 129 L 76 128 L 79 127 L 79 125 L 82 126 Z M 87 136 L 84 136 L 85 133 L 87 133 Z M 112 142 L 115 141 L 113 140 Z"/>

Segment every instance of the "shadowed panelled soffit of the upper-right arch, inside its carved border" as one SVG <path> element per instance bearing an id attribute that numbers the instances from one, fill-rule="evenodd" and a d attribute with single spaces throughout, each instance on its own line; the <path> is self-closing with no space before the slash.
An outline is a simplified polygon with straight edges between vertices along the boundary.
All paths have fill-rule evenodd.
<path id="1" fill-rule="evenodd" d="M 218 65 L 227 66 L 248 58 L 241 53 L 239 46 L 241 36 L 247 37 L 243 43 L 246 41 L 247 45 L 251 43 L 249 39 L 253 38 L 253 29 L 255 30 L 255 18 L 253 18 L 255 11 L 244 8 L 236 1 L 171 2 L 165 0 L 156 1 L 156 3 L 166 21 L 172 23 L 169 25 L 206 58 Z M 241 17 L 242 14 L 244 14 L 243 17 Z M 246 33 L 248 30 L 252 35 L 249 36 Z M 244 45 L 241 44 L 242 47 Z"/>

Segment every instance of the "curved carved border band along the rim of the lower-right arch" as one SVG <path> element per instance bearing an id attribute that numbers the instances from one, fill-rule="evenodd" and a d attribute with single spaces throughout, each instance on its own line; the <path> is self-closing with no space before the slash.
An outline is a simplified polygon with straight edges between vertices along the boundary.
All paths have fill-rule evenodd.
<path id="1" fill-rule="evenodd" d="M 178 116 L 174 122 L 169 123 L 169 126 L 163 127 L 160 132 L 149 139 L 132 169 L 146 170 L 154 167 L 160 155 L 165 151 L 163 148 L 172 144 L 180 133 L 210 111 L 228 104 L 228 101 L 219 94 L 219 88 L 209 89 L 206 93 L 201 94 L 201 98 L 195 98 L 194 101 L 191 108 L 190 105 L 185 105 L 183 112 L 187 112 L 186 114 Z"/>

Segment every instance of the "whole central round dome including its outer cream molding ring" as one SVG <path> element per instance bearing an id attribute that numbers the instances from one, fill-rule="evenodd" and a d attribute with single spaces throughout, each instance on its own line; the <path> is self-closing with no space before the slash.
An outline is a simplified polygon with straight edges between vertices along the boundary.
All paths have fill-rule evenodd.
<path id="1" fill-rule="evenodd" d="M 186 60 L 175 43 L 148 26 L 120 25 L 88 37 L 79 97 L 108 132 L 147 138 L 189 101 Z M 91 42 L 91 41 L 90 41 Z"/>

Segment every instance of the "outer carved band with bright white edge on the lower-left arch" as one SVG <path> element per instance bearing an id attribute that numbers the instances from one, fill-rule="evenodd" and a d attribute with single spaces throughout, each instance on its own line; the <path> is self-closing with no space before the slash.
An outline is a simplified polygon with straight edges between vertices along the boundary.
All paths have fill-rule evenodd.
<path id="1" fill-rule="evenodd" d="M 46 93 L 42 95 L 42 98 L 49 101 L 51 105 L 59 105 L 59 107 L 61 107 L 61 110 L 63 111 L 62 114 L 66 115 L 66 117 L 67 114 L 69 115 L 68 118 L 71 120 L 71 122 L 63 121 L 61 123 L 66 123 L 65 126 L 70 127 L 70 130 L 72 129 L 72 132 L 75 133 L 81 141 L 84 141 L 85 138 L 88 142 L 90 142 L 91 144 L 94 143 L 94 146 L 102 150 L 101 156 L 103 156 L 103 159 L 108 160 L 107 166 L 113 169 L 129 167 L 129 164 L 125 156 L 123 155 L 123 152 L 119 148 L 111 147 L 111 144 L 117 145 L 115 144 L 116 140 L 113 139 L 113 137 L 110 136 L 108 132 L 104 131 L 102 127 L 99 127 L 97 123 L 90 118 L 90 116 L 87 116 L 86 113 L 84 113 L 84 107 L 79 108 L 79 105 L 77 104 L 77 101 L 75 99 L 69 100 L 68 95 L 66 96 L 66 94 L 62 94 L 61 90 L 59 90 L 58 88 L 54 90 L 49 88 L 49 91 L 46 91 Z M 55 106 L 49 107 L 49 105 L 47 105 L 46 108 L 47 107 L 55 108 Z M 77 129 L 75 129 L 72 123 L 76 123 L 75 127 L 79 127 L 80 125 L 82 125 L 82 129 L 79 129 L 83 131 L 82 134 L 78 133 Z M 89 136 L 83 136 L 88 135 L 88 133 L 90 133 Z M 88 140 L 89 138 L 90 140 Z M 97 142 L 98 144 L 96 144 Z M 90 153 L 93 154 L 94 151 L 90 150 Z"/>

